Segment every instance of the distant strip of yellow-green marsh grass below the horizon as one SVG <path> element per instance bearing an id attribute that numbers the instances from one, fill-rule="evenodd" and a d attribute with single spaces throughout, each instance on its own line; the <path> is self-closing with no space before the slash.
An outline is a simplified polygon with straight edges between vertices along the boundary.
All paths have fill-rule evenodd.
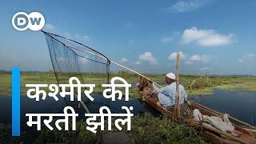
<path id="1" fill-rule="evenodd" d="M 67 83 L 70 76 L 78 76 L 77 74 L 62 74 L 62 83 Z M 112 73 L 110 78 L 119 76 L 128 83 L 136 83 L 139 81 L 139 76 L 136 74 L 128 74 L 126 72 Z M 158 82 L 160 86 L 166 86 L 164 74 L 146 74 L 147 77 Z M 101 83 L 106 82 L 104 74 L 83 74 L 82 78 L 86 83 L 96 84 L 94 93 L 101 94 L 103 88 Z M 227 76 L 208 76 L 208 75 L 180 75 L 180 83 L 185 87 L 188 95 L 207 95 L 212 94 L 214 88 L 223 90 L 248 90 L 256 91 L 256 77 L 227 77 Z M 54 72 L 22 72 L 21 74 L 21 92 L 26 95 L 26 84 L 57 84 Z M 42 90 L 49 91 L 47 88 Z M 11 94 L 11 74 L 0 73 L 0 95 L 10 96 Z M 130 97 L 138 98 L 136 87 L 130 88 Z"/>

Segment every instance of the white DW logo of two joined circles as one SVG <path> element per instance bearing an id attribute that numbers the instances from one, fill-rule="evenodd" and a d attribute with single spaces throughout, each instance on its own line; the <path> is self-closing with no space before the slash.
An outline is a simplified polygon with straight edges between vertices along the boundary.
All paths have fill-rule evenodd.
<path id="1" fill-rule="evenodd" d="M 30 14 L 18 12 L 14 14 L 14 17 L 12 18 L 14 29 L 19 31 L 24 31 L 27 29 L 33 31 L 41 30 L 45 25 L 45 22 L 46 21 L 43 15 L 38 12 L 32 12 Z"/>

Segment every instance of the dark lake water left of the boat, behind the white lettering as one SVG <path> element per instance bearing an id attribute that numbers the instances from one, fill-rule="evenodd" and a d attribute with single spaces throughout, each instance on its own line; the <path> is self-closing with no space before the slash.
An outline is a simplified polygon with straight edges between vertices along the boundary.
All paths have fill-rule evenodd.
<path id="1" fill-rule="evenodd" d="M 69 99 L 69 97 L 66 97 Z M 75 99 L 75 98 L 74 98 Z M 122 106 L 133 106 L 134 110 L 132 113 L 142 114 L 147 110 L 139 99 L 130 99 L 126 102 L 125 100 L 118 100 L 112 102 L 110 99 L 103 98 L 102 96 L 94 96 L 94 102 L 86 101 L 83 99 L 83 102 L 86 103 L 86 106 L 90 110 L 90 113 L 98 113 L 98 110 L 101 106 L 108 106 L 111 110 L 111 113 L 125 113 L 125 110 L 122 110 Z M 59 97 L 58 101 L 55 101 L 54 98 L 46 97 L 46 100 L 40 99 L 36 102 L 34 99 L 30 99 L 26 96 L 21 97 L 21 123 L 26 124 L 28 118 L 26 114 L 37 114 L 37 113 L 53 113 L 61 114 L 63 113 L 63 108 L 65 106 L 72 106 L 77 114 L 79 114 L 78 120 L 84 118 L 86 113 L 83 107 L 78 108 L 78 102 L 70 102 L 64 100 L 64 98 Z M 0 96 L 0 123 L 11 123 L 11 97 Z"/>

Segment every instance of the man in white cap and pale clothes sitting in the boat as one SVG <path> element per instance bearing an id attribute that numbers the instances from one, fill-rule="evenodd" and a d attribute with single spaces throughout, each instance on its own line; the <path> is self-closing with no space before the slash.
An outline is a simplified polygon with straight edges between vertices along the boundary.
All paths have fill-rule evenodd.
<path id="1" fill-rule="evenodd" d="M 154 90 L 158 93 L 158 104 L 162 106 L 169 107 L 174 106 L 175 104 L 175 97 L 176 97 L 176 77 L 175 74 L 169 73 L 166 74 L 166 83 L 168 86 L 158 88 L 155 83 L 153 83 Z M 187 99 L 186 90 L 184 86 L 179 84 L 179 104 L 181 105 Z"/>

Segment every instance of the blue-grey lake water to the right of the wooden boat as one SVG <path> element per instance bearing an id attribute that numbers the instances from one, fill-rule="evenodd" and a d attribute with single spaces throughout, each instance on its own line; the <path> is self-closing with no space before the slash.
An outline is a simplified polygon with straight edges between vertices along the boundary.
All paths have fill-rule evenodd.
<path id="1" fill-rule="evenodd" d="M 256 93 L 215 89 L 213 94 L 190 97 L 195 102 L 256 125 Z"/>

